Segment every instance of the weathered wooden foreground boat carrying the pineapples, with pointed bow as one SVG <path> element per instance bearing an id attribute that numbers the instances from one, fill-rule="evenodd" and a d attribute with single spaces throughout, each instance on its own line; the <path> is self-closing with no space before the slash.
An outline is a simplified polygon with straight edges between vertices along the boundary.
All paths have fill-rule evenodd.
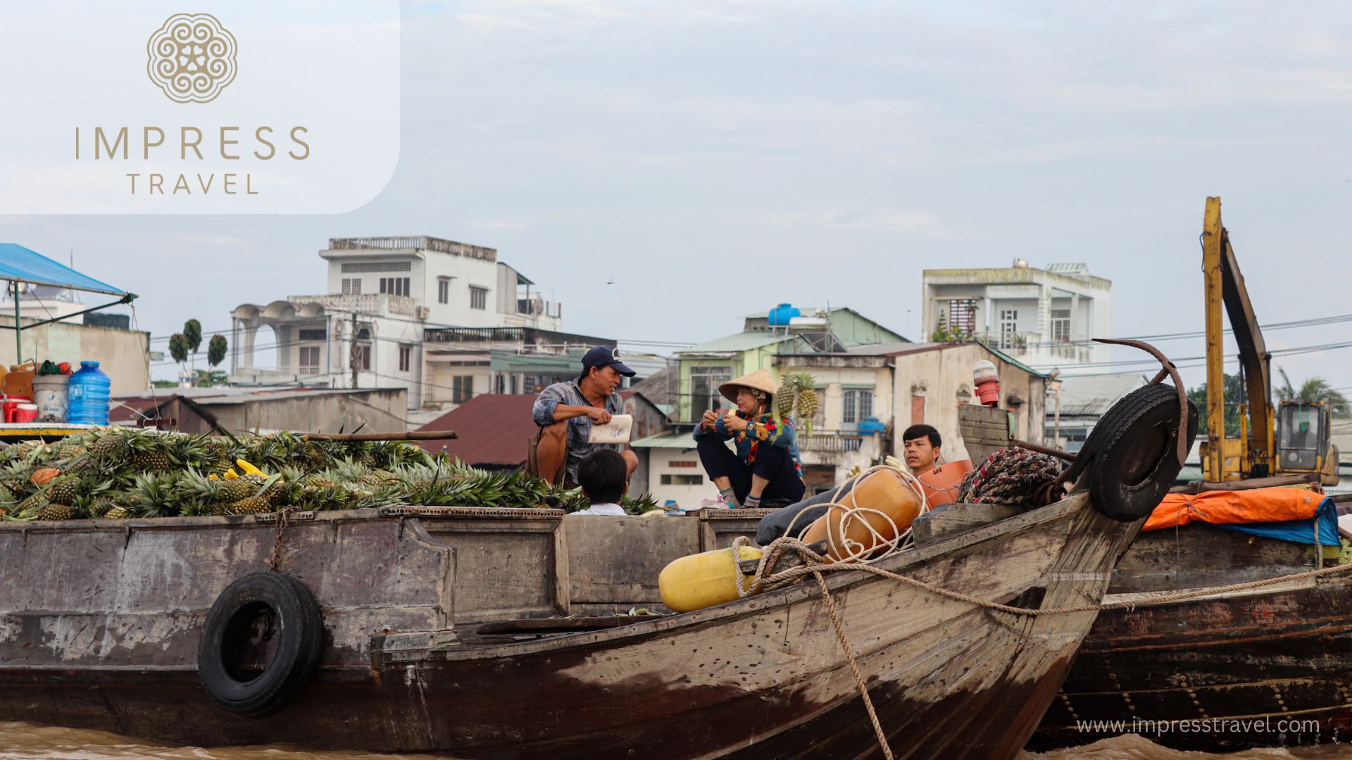
<path id="1" fill-rule="evenodd" d="M 681 615 L 623 615 L 657 606 L 667 561 L 726 546 L 758 517 L 403 507 L 300 515 L 284 530 L 260 517 L 7 523 L 0 714 L 206 746 L 876 756 L 815 583 Z M 1138 526 L 1080 494 L 883 567 L 1018 607 L 1094 604 Z M 218 595 L 270 560 L 314 592 L 323 646 L 299 696 L 251 718 L 208 699 L 199 638 Z M 1095 617 L 1018 617 L 857 571 L 829 587 L 904 757 L 1014 756 Z M 480 625 L 503 619 L 516 622 Z M 241 646 L 258 644 L 258 630 Z M 246 649 L 235 667 L 266 663 Z"/>

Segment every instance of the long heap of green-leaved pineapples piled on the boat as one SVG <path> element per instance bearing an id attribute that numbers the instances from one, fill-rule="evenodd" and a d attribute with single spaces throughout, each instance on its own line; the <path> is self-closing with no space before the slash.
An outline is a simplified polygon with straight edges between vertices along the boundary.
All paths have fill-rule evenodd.
<path id="1" fill-rule="evenodd" d="M 207 437 L 97 427 L 0 450 L 0 518 L 247 515 L 397 504 L 587 507 L 576 490 L 518 472 L 485 472 L 395 441 L 291 433 Z M 626 499 L 633 514 L 657 508 Z"/>

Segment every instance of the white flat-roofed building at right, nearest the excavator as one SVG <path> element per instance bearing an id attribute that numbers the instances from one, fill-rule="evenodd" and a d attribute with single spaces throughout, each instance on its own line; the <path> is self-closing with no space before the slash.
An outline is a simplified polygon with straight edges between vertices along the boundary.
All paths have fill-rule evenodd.
<path id="1" fill-rule="evenodd" d="M 1038 369 L 1109 361 L 1088 342 L 1113 334 L 1113 283 L 1083 264 L 1034 269 L 926 269 L 921 330 L 933 341 L 976 338 Z"/>

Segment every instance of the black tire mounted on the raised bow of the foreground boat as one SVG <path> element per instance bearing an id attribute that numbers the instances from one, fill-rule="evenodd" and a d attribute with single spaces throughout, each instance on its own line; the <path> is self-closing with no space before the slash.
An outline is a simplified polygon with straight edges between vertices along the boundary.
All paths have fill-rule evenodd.
<path id="1" fill-rule="evenodd" d="M 1179 396 L 1174 385 L 1137 388 L 1113 404 L 1094 426 L 1071 477 L 1087 472 L 1090 498 L 1105 515 L 1130 522 L 1149 515 L 1183 468 L 1178 461 Z M 1187 403 L 1187 445 L 1198 415 Z"/>

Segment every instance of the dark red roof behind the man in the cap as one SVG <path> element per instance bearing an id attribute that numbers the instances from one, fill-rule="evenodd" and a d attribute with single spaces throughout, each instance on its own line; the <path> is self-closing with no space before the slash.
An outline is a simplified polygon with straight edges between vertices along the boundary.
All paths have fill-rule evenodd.
<path id="1" fill-rule="evenodd" d="M 419 441 L 431 453 L 445 449 L 452 458 L 472 465 L 519 467 L 526 464 L 526 441 L 537 426 L 530 417 L 535 396 L 484 394 L 419 427 L 454 430 L 457 438 Z"/>

